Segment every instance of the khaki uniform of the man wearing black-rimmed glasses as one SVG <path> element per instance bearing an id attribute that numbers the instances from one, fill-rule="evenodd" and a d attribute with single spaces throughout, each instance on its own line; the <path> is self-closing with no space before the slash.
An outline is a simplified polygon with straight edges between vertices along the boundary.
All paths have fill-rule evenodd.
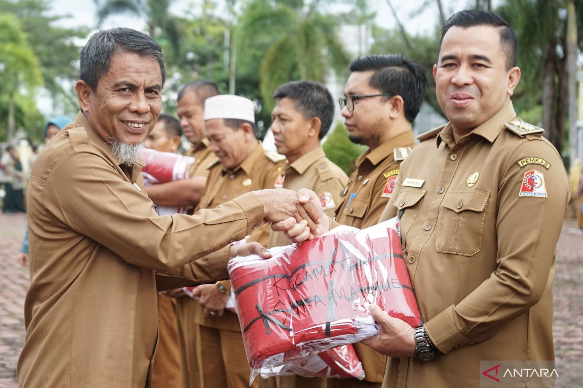
<path id="1" fill-rule="evenodd" d="M 413 147 L 413 131 L 406 131 L 360 155 L 356 159 L 357 169 L 341 193 L 336 222 L 360 229 L 375 225 L 391 198 L 401 162 Z M 387 357 L 361 343 L 354 344 L 354 347 L 363 364 L 363 382 L 329 379 L 329 386 L 380 387 Z"/>

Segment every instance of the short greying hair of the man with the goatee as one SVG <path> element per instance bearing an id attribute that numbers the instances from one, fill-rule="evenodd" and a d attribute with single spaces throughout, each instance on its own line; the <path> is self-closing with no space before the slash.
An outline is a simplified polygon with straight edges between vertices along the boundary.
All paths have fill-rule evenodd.
<path id="1" fill-rule="evenodd" d="M 156 59 L 160 65 L 162 85 L 164 85 L 166 69 L 164 68 L 164 53 L 160 45 L 149 35 L 140 31 L 118 27 L 93 34 L 81 50 L 79 78 L 85 81 L 93 91 L 97 90 L 99 79 L 109 71 L 114 51 L 135 52 Z"/>

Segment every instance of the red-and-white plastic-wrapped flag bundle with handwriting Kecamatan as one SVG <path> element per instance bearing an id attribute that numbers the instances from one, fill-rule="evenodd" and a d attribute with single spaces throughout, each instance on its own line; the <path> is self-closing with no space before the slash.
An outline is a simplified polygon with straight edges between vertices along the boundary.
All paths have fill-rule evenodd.
<path id="1" fill-rule="evenodd" d="M 396 218 L 363 230 L 339 226 L 297 246 L 272 248 L 270 259 L 229 262 L 251 380 L 375 336 L 380 328 L 368 312 L 371 303 L 413 327 L 421 324 L 398 228 Z"/>

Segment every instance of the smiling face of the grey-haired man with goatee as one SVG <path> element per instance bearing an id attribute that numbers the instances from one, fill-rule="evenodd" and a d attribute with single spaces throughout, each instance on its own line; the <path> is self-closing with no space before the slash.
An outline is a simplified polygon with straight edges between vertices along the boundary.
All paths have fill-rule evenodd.
<path id="1" fill-rule="evenodd" d="M 75 88 L 87 119 L 108 143 L 143 143 L 160 114 L 162 74 L 157 60 L 148 56 L 114 52 L 95 91 L 82 80 Z"/>

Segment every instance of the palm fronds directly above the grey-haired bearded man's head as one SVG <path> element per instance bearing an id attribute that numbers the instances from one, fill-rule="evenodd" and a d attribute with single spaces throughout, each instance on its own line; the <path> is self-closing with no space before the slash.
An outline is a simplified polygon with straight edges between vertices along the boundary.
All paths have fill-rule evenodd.
<path id="1" fill-rule="evenodd" d="M 166 38 L 178 55 L 180 34 L 177 22 L 168 9 L 174 0 L 93 0 L 97 5 L 97 24 L 120 13 L 133 13 L 146 20 L 147 31 L 153 39 Z"/>

